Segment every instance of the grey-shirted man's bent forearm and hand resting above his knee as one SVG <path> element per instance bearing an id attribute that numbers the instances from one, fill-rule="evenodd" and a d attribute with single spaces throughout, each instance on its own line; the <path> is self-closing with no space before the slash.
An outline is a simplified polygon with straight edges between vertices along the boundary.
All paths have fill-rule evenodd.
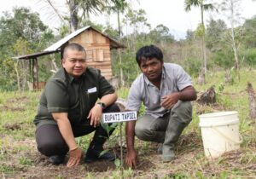
<path id="1" fill-rule="evenodd" d="M 166 109 L 171 109 L 177 101 L 194 101 L 196 100 L 196 92 L 193 86 L 188 86 L 179 92 L 172 93 L 170 95 L 165 95 L 161 99 L 161 106 Z"/>

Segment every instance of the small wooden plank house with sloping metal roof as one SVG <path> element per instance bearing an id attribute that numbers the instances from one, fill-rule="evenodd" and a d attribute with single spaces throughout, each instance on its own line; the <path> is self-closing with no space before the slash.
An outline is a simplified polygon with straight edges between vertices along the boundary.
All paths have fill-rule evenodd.
<path id="1" fill-rule="evenodd" d="M 124 45 L 113 38 L 99 32 L 91 26 L 86 26 L 62 38 L 60 41 L 52 44 L 43 52 L 32 55 L 21 55 L 14 57 L 16 60 L 29 60 L 31 64 L 33 89 L 38 89 L 38 57 L 53 53 L 61 53 L 68 43 L 79 43 L 86 50 L 87 66 L 100 69 L 102 75 L 108 80 L 113 78 L 111 49 L 125 48 Z"/>

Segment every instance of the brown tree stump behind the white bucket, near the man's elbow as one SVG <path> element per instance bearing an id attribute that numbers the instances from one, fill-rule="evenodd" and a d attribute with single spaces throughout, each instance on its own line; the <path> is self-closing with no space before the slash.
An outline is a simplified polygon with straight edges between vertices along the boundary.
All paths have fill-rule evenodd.
<path id="1" fill-rule="evenodd" d="M 213 104 L 216 102 L 216 92 L 214 86 L 211 86 L 206 92 L 202 93 L 197 100 L 200 104 Z"/>

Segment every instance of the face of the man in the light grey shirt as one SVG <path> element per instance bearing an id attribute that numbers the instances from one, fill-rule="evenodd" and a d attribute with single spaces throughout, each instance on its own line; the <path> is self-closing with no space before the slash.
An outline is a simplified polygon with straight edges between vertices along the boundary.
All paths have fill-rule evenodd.
<path id="1" fill-rule="evenodd" d="M 163 63 L 156 58 L 143 60 L 140 68 L 149 81 L 160 78 Z"/>

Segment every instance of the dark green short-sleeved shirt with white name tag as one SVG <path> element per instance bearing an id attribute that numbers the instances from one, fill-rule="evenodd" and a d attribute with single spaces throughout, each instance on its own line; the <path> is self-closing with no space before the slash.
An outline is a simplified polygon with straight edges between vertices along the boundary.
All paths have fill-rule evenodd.
<path id="1" fill-rule="evenodd" d="M 72 125 L 85 122 L 97 99 L 112 93 L 113 86 L 99 70 L 87 67 L 83 75 L 73 78 L 61 68 L 45 86 L 34 124 L 56 124 L 51 113 L 68 113 Z"/>

